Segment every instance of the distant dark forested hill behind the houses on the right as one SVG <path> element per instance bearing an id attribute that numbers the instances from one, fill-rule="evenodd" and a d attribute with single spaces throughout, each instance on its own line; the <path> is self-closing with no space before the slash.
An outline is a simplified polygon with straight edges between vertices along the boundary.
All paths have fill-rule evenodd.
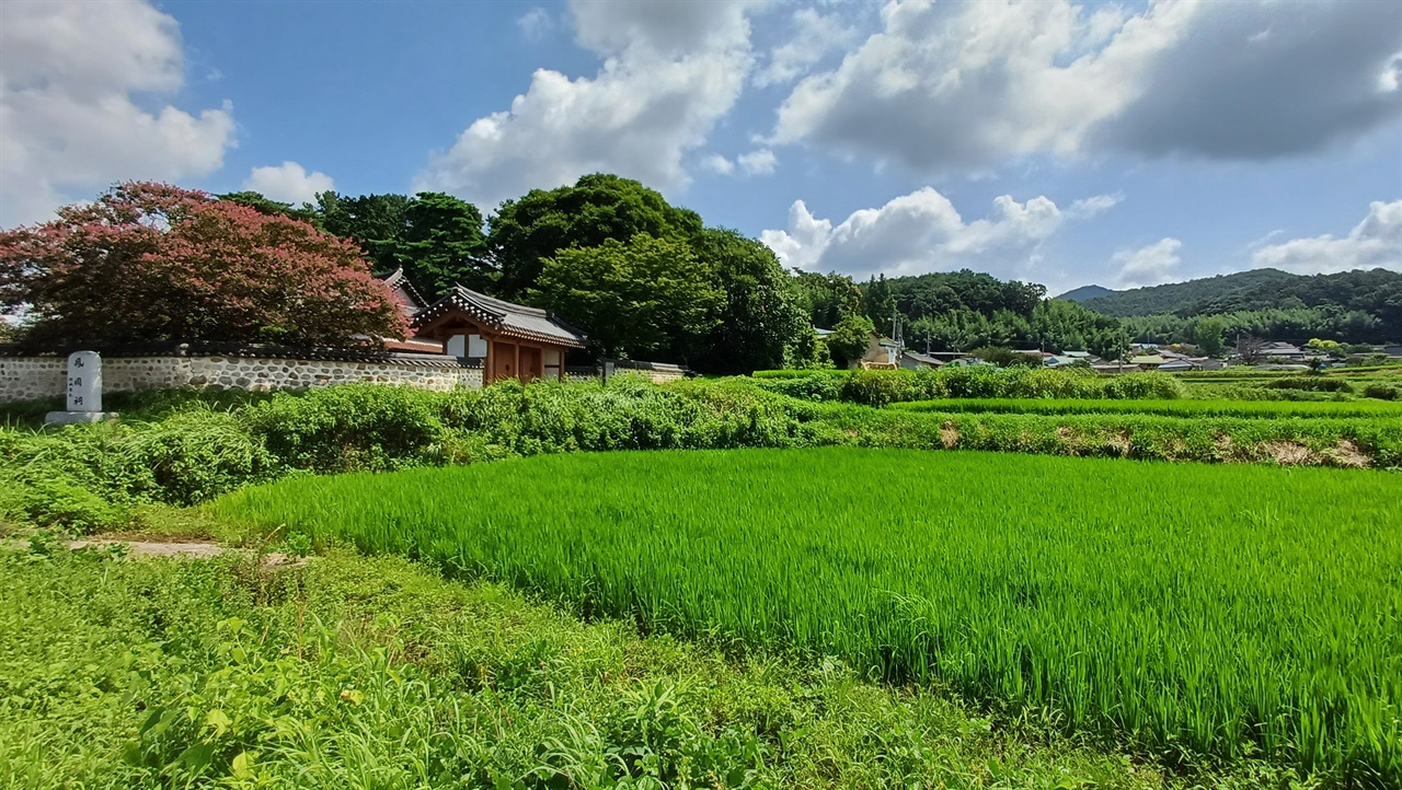
<path id="1" fill-rule="evenodd" d="M 1307 307 L 1377 312 L 1377 307 L 1395 297 L 1399 287 L 1402 287 L 1402 273 L 1385 269 L 1314 276 L 1291 275 L 1279 269 L 1255 269 L 1186 283 L 1113 291 L 1077 301 L 1088 310 L 1116 318 L 1168 312 L 1182 317 L 1220 315 Z M 1073 294 L 1075 291 L 1061 298 Z"/>

